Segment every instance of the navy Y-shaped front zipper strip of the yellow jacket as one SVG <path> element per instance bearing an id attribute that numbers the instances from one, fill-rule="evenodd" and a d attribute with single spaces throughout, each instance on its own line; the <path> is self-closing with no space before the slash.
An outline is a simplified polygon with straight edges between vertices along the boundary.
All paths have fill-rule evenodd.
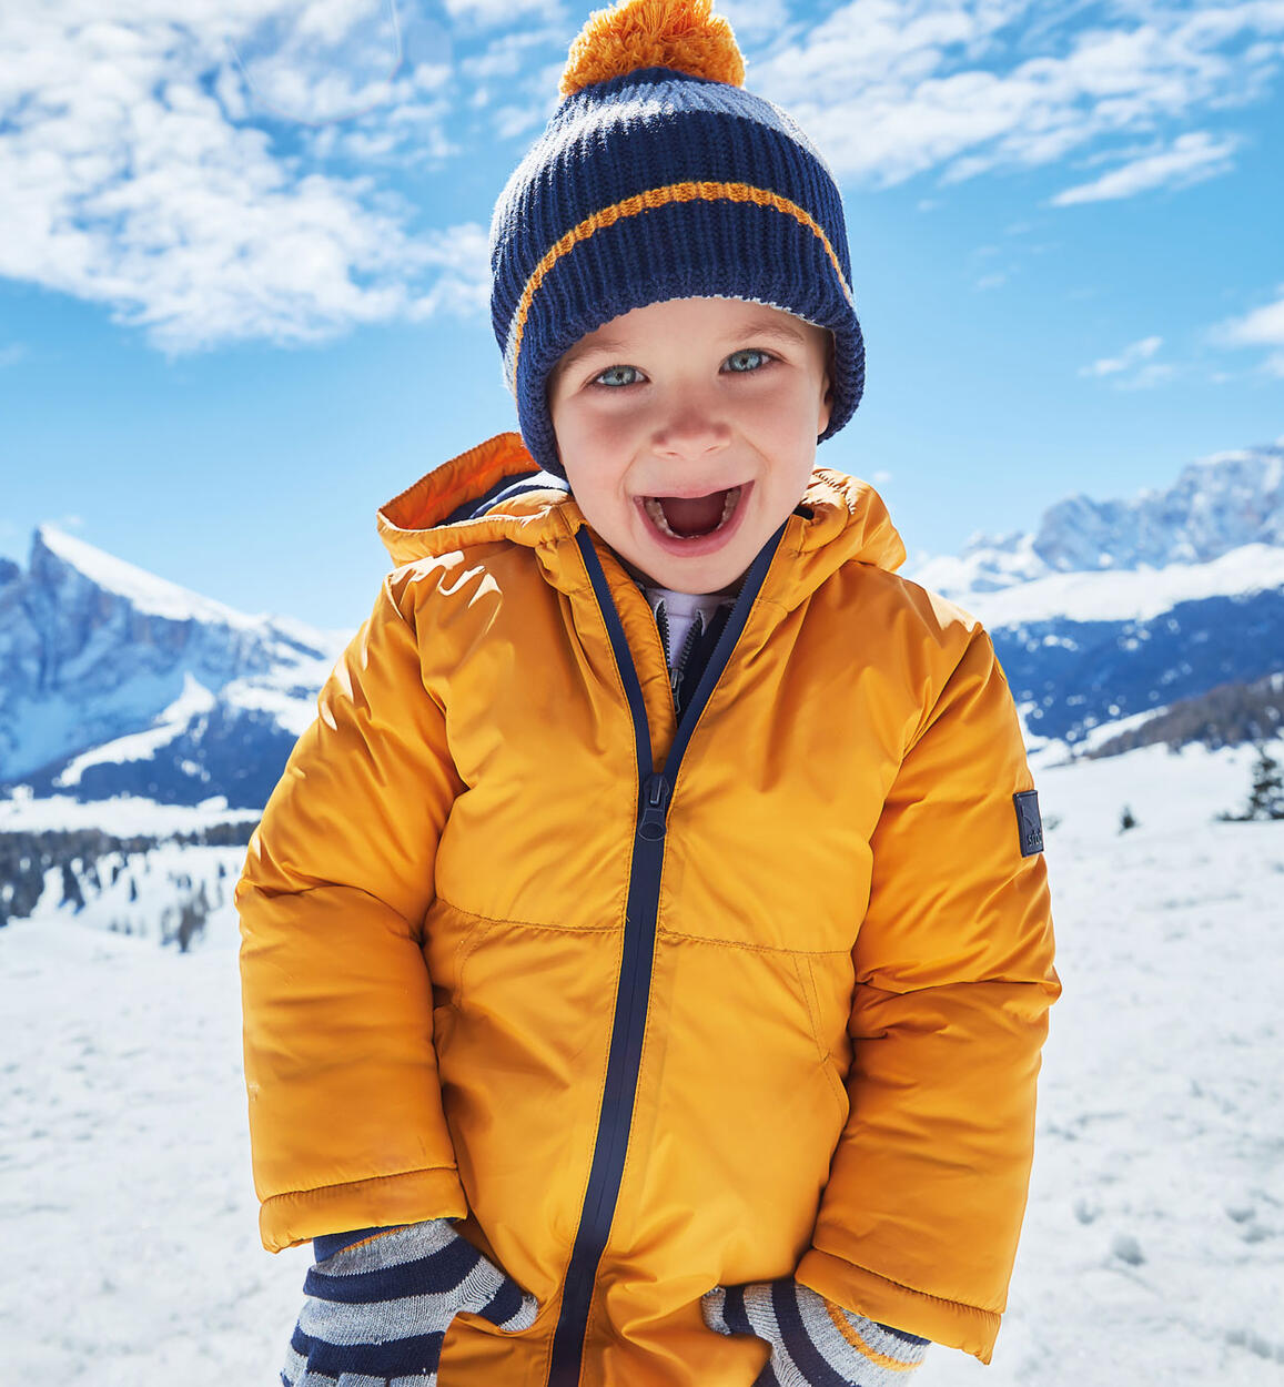
<path id="1" fill-rule="evenodd" d="M 611 1219 L 616 1215 L 616 1201 L 620 1197 L 620 1180 L 624 1175 L 624 1157 L 628 1151 L 628 1135 L 632 1126 L 634 1099 L 638 1092 L 638 1068 L 642 1062 L 642 1036 L 646 1031 L 646 1011 L 650 1000 L 656 917 L 660 910 L 660 874 L 664 867 L 664 834 L 673 789 L 691 734 L 731 659 L 731 652 L 735 649 L 740 632 L 745 630 L 749 612 L 763 587 L 783 533 L 785 526 L 781 526 L 749 566 L 740 594 L 727 619 L 727 626 L 722 628 L 691 702 L 678 721 L 673 748 L 660 770 L 652 768 L 650 727 L 646 721 L 642 685 L 638 682 L 632 652 L 624 637 L 624 627 L 620 624 L 620 613 L 610 595 L 606 574 L 602 571 L 602 563 L 593 549 L 589 530 L 581 526 L 575 534 L 575 544 L 584 559 L 589 583 L 592 583 L 593 595 L 602 609 L 602 619 L 606 623 L 634 721 L 639 792 L 636 836 L 628 877 L 624 949 L 620 960 L 620 983 L 616 992 L 610 1051 L 606 1061 L 602 1111 L 598 1117 L 598 1140 L 593 1146 L 584 1208 L 580 1212 L 580 1227 L 575 1232 L 571 1259 L 566 1269 L 562 1313 L 557 1316 L 557 1327 L 553 1332 L 549 1387 L 578 1387 L 584 1358 L 584 1336 L 588 1329 L 598 1265 L 606 1251 Z"/>

